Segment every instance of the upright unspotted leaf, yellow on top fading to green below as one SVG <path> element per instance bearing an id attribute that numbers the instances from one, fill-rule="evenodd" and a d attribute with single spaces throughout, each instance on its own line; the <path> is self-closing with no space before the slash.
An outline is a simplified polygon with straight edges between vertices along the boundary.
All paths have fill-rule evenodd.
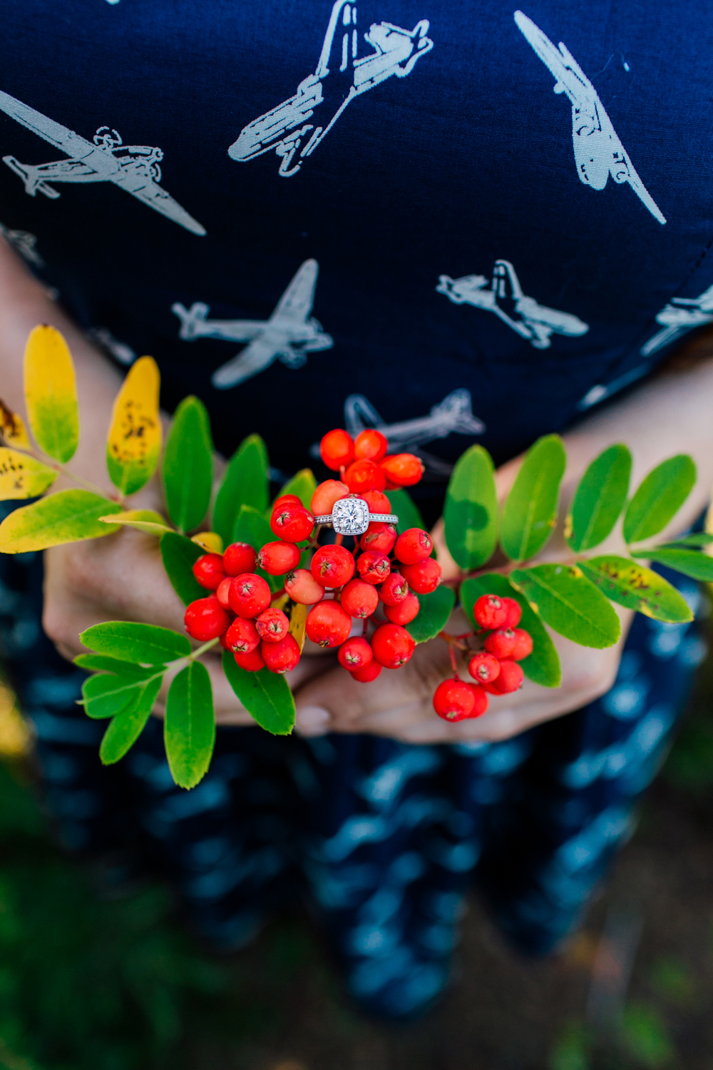
<path id="1" fill-rule="evenodd" d="M 43 324 L 25 350 L 25 400 L 37 445 L 56 461 L 72 460 L 79 443 L 74 364 L 64 338 Z"/>

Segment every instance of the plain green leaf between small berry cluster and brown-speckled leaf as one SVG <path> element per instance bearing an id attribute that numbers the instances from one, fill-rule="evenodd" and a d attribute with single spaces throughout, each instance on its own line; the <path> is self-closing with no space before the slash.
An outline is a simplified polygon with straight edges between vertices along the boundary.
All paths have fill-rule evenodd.
<path id="1" fill-rule="evenodd" d="M 621 635 L 616 612 L 576 565 L 517 568 L 510 577 L 542 620 L 580 646 L 603 649 Z"/>

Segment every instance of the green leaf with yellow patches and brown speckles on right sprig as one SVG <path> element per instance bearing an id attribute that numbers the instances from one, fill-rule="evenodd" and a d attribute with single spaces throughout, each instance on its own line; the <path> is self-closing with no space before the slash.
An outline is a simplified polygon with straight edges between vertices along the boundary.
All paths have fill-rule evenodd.
<path id="1" fill-rule="evenodd" d="M 713 579 L 713 560 L 708 560 Z M 693 621 L 693 613 L 676 587 L 663 576 L 636 564 L 630 557 L 607 554 L 580 561 L 579 567 L 607 598 L 626 609 L 635 609 L 654 621 L 666 621 L 669 624 Z"/>

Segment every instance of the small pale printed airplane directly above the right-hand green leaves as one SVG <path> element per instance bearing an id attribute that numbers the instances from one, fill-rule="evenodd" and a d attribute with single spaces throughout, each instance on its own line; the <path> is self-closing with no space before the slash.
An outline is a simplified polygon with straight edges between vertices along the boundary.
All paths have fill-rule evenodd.
<path id="1" fill-rule="evenodd" d="M 495 261 L 490 290 L 485 289 L 486 286 L 484 275 L 464 275 L 455 279 L 441 275 L 436 290 L 456 305 L 466 303 L 495 312 L 521 338 L 527 338 L 534 349 L 549 349 L 553 333 L 576 338 L 589 331 L 589 324 L 583 323 L 576 316 L 539 305 L 534 297 L 526 297 L 509 260 Z"/>

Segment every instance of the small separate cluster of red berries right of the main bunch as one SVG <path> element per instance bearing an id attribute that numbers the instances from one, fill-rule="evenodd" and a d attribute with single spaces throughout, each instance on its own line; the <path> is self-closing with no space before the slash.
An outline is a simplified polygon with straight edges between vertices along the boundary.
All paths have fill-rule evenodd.
<path id="1" fill-rule="evenodd" d="M 532 653 L 532 639 L 518 628 L 523 611 L 514 598 L 482 595 L 472 615 L 486 632 L 483 649 L 470 655 L 468 672 L 476 681 L 467 684 L 458 675 L 436 688 L 433 707 L 447 721 L 480 717 L 487 709 L 487 694 L 508 694 L 523 686 L 517 664 Z M 486 693 L 487 692 L 487 693 Z"/>

